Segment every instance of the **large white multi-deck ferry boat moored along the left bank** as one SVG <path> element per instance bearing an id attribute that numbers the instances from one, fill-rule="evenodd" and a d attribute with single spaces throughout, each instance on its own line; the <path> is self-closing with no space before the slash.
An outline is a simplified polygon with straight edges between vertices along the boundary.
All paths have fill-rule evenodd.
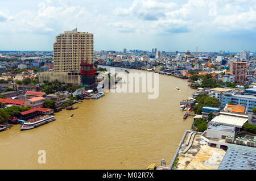
<path id="1" fill-rule="evenodd" d="M 27 130 L 27 129 L 32 129 L 32 128 L 36 128 L 39 127 L 40 125 L 49 123 L 51 121 L 54 121 L 55 117 L 52 115 L 45 115 L 45 116 L 40 116 L 40 117 L 36 117 L 34 119 L 28 120 L 25 123 L 23 123 L 19 129 L 20 131 L 23 130 Z"/>

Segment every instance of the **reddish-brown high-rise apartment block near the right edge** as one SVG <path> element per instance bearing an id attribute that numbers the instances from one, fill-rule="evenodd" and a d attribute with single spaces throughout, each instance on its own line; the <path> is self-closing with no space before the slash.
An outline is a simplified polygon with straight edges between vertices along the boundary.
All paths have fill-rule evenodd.
<path id="1" fill-rule="evenodd" d="M 235 75 L 236 83 L 244 83 L 246 81 L 246 69 L 246 62 L 230 61 L 230 74 Z"/>

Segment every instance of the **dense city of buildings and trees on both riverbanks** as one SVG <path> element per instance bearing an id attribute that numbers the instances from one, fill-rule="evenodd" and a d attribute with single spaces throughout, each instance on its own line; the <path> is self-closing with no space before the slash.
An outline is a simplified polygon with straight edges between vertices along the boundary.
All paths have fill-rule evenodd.
<path id="1" fill-rule="evenodd" d="M 59 53 L 68 46 L 59 43 L 64 35 L 92 40 L 87 47 L 79 45 L 82 38 L 71 40 L 90 53 L 76 52 L 71 59 L 69 53 Z M 13 124 L 32 129 L 55 120 L 54 112 L 101 98 L 105 94 L 98 87 L 103 87 L 105 77 L 115 83 L 120 78 L 100 66 L 139 69 L 187 79 L 195 89 L 191 98 L 177 103 L 184 111 L 180 119 L 193 116 L 194 121 L 170 166 L 163 159 L 161 166 L 152 163 L 148 169 L 256 169 L 255 52 L 198 52 L 197 47 L 194 52 L 118 52 L 88 47 L 93 47 L 93 34 L 73 30 L 56 37 L 53 52 L 0 51 L 0 130 L 12 129 Z"/>

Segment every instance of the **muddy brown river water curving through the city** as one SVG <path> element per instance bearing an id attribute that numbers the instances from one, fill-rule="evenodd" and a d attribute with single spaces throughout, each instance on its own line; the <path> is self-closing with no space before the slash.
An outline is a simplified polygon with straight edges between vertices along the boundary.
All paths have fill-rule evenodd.
<path id="1" fill-rule="evenodd" d="M 187 79 L 159 75 L 157 99 L 109 92 L 55 113 L 56 121 L 38 128 L 14 125 L 0 132 L 0 169 L 146 169 L 163 158 L 169 165 L 193 120 L 183 120 L 179 103 L 194 91 Z M 38 163 L 39 150 L 46 151 L 46 163 Z"/>

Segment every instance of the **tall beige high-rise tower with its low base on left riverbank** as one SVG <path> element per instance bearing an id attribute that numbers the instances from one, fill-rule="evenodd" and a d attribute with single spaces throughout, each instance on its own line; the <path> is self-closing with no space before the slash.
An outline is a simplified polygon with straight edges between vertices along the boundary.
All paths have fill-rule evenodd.
<path id="1" fill-rule="evenodd" d="M 40 73 L 39 80 L 52 82 L 57 79 L 76 86 L 83 85 L 81 63 L 85 62 L 90 65 L 89 68 L 95 69 L 93 57 L 93 33 L 78 32 L 77 28 L 60 33 L 53 44 L 53 71 Z"/>

